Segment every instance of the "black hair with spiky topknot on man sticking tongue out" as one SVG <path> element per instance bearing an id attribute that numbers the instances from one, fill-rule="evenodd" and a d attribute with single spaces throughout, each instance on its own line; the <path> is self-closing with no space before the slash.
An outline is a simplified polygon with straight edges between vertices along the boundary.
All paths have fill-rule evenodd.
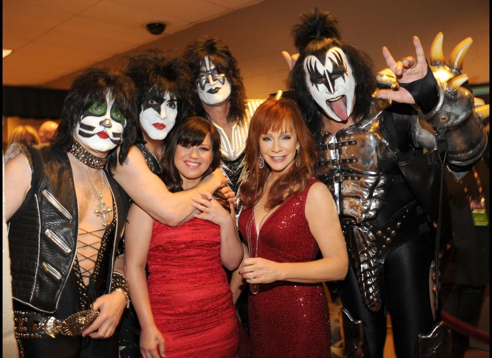
<path id="1" fill-rule="evenodd" d="M 328 11 L 314 9 L 300 16 L 301 23 L 295 25 L 292 34 L 299 51 L 299 58 L 289 76 L 289 85 L 294 89 L 304 120 L 311 131 L 321 126 L 322 110 L 311 97 L 305 81 L 304 59 L 314 55 L 324 62 L 326 51 L 332 47 L 342 49 L 352 67 L 356 81 L 355 106 L 352 116 L 355 121 L 368 114 L 371 95 L 376 89 L 376 78 L 371 58 L 354 45 L 341 39 L 338 22 Z"/>

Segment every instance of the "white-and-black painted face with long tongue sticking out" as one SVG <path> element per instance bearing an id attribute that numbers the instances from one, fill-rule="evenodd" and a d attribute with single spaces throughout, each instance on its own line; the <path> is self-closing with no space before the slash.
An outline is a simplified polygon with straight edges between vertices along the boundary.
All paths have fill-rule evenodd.
<path id="1" fill-rule="evenodd" d="M 355 78 L 345 53 L 332 47 L 324 64 L 313 55 L 304 59 L 306 85 L 324 113 L 337 122 L 352 114 L 355 102 Z"/>

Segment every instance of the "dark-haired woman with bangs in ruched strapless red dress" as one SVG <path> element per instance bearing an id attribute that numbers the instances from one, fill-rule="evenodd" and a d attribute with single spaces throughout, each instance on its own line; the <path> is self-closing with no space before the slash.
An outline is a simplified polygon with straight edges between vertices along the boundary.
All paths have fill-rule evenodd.
<path id="1" fill-rule="evenodd" d="M 162 157 L 162 179 L 177 192 L 220 165 L 220 137 L 201 117 L 188 118 L 173 132 Z M 234 210 L 219 197 L 202 195 L 193 203 L 201 213 L 177 227 L 154 221 L 136 205 L 130 209 L 125 272 L 146 358 L 236 355 L 238 322 L 222 265 L 236 269 L 243 250 Z"/>

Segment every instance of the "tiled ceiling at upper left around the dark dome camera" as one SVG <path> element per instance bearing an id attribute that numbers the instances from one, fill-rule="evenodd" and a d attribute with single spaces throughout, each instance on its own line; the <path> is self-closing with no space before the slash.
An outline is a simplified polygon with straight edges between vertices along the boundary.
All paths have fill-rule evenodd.
<path id="1" fill-rule="evenodd" d="M 3 0 L 3 85 L 43 86 L 159 36 L 262 0 Z M 162 35 L 160 35 L 162 36 Z"/>

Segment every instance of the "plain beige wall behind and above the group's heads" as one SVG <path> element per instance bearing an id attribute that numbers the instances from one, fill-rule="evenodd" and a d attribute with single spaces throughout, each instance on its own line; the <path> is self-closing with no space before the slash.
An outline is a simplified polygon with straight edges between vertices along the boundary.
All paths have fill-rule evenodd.
<path id="1" fill-rule="evenodd" d="M 236 57 L 250 98 L 264 98 L 285 89 L 289 73 L 281 50 L 294 52 L 291 28 L 298 15 L 317 6 L 331 11 L 340 22 L 342 38 L 365 50 L 376 69 L 386 67 L 381 47 L 387 46 L 395 58 L 413 55 L 412 36 L 418 35 L 426 55 L 435 35 L 444 33 L 444 53 L 448 55 L 463 38 L 471 36 L 473 45 L 464 63 L 464 73 L 473 84 L 489 82 L 489 2 L 488 0 L 393 0 L 300 1 L 267 0 L 186 30 L 159 37 L 145 46 L 179 54 L 200 35 L 220 37 Z M 122 56 L 94 64 L 121 69 Z M 75 74 L 46 84 L 50 88 L 70 87 Z"/>

